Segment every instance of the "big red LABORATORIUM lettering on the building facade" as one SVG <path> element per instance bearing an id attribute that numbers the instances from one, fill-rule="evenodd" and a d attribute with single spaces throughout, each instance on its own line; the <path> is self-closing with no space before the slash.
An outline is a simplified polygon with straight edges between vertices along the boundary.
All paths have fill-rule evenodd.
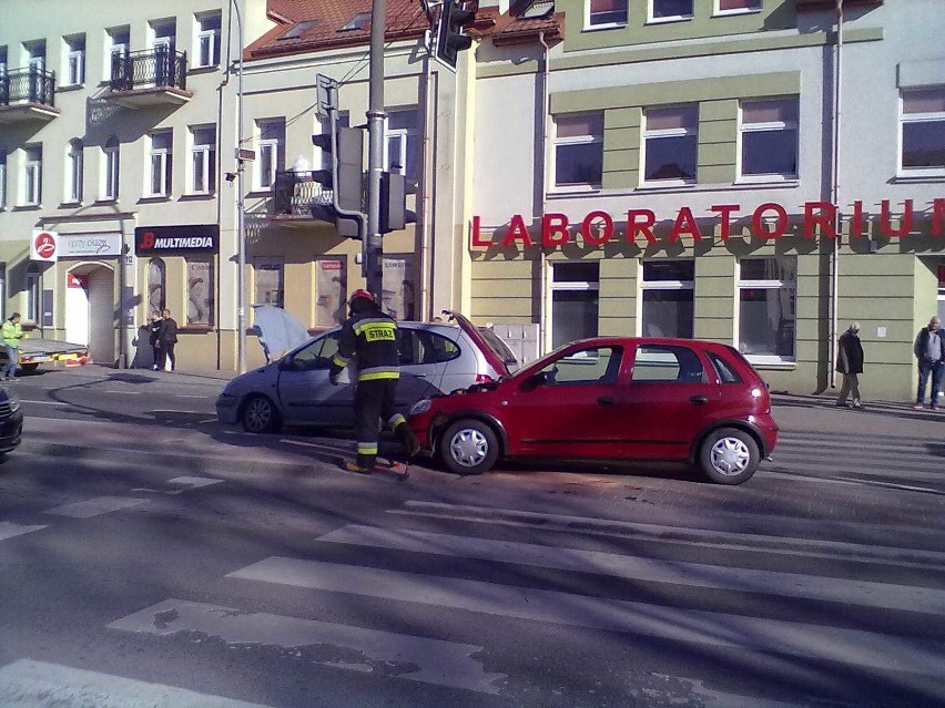
<path id="1" fill-rule="evenodd" d="M 886 238 L 903 238 L 908 236 L 915 222 L 924 214 L 931 218 L 929 233 L 933 236 L 945 235 L 945 198 L 933 199 L 925 211 L 918 211 L 913 199 L 902 203 L 902 209 L 893 212 L 890 199 L 883 199 L 880 214 L 868 214 L 863 208 L 863 202 L 854 202 L 852 212 L 842 214 L 850 223 L 850 235 L 852 238 L 867 237 L 868 227 L 877 222 L 880 233 Z M 814 238 L 817 235 L 826 238 L 836 238 L 837 207 L 830 202 L 806 202 L 803 205 L 803 236 Z M 627 212 L 626 230 L 622 234 L 628 244 L 642 239 L 644 244 L 663 242 L 678 242 L 681 236 L 690 236 L 693 240 L 703 240 L 705 234 L 712 236 L 714 227 L 719 226 L 721 239 L 729 240 L 732 234 L 732 223 L 738 219 L 749 219 L 751 234 L 763 240 L 776 239 L 786 235 L 791 226 L 791 215 L 785 206 L 775 202 L 766 202 L 759 205 L 753 212 L 743 213 L 740 204 L 717 204 L 709 207 L 711 216 L 697 217 L 692 208 L 682 206 L 675 213 L 673 224 L 665 237 L 659 238 L 653 233 L 657 225 L 657 214 L 651 209 L 629 209 Z M 509 225 L 502 235 L 501 229 L 496 229 L 492 238 L 484 238 L 481 235 L 480 217 L 472 217 L 471 246 L 474 248 L 488 248 L 490 246 L 563 246 L 570 243 L 577 234 L 580 234 L 585 244 L 602 246 L 614 237 L 620 237 L 617 232 L 614 218 L 602 211 L 590 212 L 580 220 L 571 223 L 566 214 L 543 214 L 541 216 L 540 236 L 532 237 L 528 225 L 521 214 L 516 214 L 509 220 Z M 500 237 L 500 238 L 498 238 Z M 537 243 L 536 243 L 537 242 Z"/>

